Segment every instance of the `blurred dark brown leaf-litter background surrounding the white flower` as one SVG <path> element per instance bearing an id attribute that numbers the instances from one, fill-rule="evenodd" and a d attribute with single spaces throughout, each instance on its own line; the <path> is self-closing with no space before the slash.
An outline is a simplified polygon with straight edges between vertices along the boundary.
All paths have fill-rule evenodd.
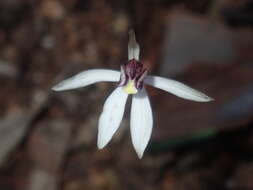
<path id="1" fill-rule="evenodd" d="M 149 73 L 215 99 L 148 87 L 154 128 L 141 160 L 129 106 L 96 147 L 116 84 L 50 90 L 82 70 L 119 69 L 130 28 Z M 1 190 L 253 189 L 251 0 L 1 0 L 0 81 Z"/>

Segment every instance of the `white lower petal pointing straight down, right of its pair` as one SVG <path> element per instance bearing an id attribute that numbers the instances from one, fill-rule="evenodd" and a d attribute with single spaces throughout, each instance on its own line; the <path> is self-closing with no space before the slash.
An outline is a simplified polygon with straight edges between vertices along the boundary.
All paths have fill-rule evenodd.
<path id="1" fill-rule="evenodd" d="M 145 89 L 133 95 L 130 127 L 135 151 L 142 158 L 153 128 L 152 109 Z"/>

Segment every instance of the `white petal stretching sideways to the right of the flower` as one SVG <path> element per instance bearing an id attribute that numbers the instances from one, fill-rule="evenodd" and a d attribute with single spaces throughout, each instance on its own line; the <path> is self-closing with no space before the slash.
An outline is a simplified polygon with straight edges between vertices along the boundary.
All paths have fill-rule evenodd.
<path id="1" fill-rule="evenodd" d="M 172 79 L 166 79 L 158 76 L 147 76 L 144 82 L 156 88 L 170 92 L 180 98 L 197 102 L 209 102 L 213 100 L 202 92 Z"/>

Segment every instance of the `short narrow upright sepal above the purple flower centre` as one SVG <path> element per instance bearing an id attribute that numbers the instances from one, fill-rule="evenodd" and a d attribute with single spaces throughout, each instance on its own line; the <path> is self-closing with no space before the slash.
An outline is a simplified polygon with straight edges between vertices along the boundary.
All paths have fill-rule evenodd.
<path id="1" fill-rule="evenodd" d="M 136 59 L 139 60 L 140 46 L 136 42 L 135 33 L 133 30 L 129 31 L 129 42 L 128 42 L 128 60 Z"/>

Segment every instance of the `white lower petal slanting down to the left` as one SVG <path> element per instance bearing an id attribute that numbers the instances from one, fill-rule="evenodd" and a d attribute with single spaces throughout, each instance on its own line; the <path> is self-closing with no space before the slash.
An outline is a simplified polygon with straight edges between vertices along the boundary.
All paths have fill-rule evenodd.
<path id="1" fill-rule="evenodd" d="M 127 97 L 128 94 L 122 90 L 122 87 L 118 87 L 105 101 L 103 112 L 98 122 L 97 146 L 99 149 L 107 145 L 113 134 L 119 128 Z"/>

